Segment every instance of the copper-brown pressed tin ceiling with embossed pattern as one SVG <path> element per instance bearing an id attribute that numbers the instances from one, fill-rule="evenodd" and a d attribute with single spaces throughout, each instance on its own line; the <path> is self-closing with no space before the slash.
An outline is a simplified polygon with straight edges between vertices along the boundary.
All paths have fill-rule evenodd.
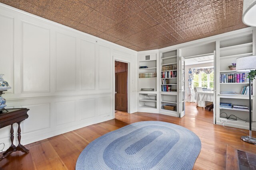
<path id="1" fill-rule="evenodd" d="M 243 0 L 0 0 L 136 51 L 247 27 Z"/>

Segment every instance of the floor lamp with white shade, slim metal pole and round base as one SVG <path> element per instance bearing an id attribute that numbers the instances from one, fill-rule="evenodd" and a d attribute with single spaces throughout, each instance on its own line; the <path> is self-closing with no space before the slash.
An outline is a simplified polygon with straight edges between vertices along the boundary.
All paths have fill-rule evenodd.
<path id="1" fill-rule="evenodd" d="M 240 57 L 236 59 L 236 71 L 250 72 L 256 69 L 256 55 Z M 242 136 L 243 141 L 256 144 L 256 138 L 252 137 L 252 104 L 251 104 L 251 78 L 249 78 L 249 136 Z"/>

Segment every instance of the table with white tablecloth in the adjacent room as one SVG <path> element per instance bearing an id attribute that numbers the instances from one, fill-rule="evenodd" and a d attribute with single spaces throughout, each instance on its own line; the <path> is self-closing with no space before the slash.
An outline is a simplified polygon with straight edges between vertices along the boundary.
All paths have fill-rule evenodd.
<path id="1" fill-rule="evenodd" d="M 196 92 L 195 100 L 197 102 L 197 106 L 206 107 L 214 102 L 214 94 L 213 92 Z"/>

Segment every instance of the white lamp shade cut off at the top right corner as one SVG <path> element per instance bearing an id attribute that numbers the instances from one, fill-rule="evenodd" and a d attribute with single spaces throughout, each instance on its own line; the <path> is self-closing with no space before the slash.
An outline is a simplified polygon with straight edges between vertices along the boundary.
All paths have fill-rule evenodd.
<path id="1" fill-rule="evenodd" d="M 256 26 L 256 0 L 244 0 L 243 23 L 249 26 Z"/>

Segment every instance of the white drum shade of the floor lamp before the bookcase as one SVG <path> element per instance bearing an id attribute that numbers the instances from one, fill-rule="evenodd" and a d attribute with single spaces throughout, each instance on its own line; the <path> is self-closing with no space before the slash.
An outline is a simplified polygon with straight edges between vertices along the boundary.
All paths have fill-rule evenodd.
<path id="1" fill-rule="evenodd" d="M 256 55 L 236 59 L 236 71 L 250 71 L 256 69 Z"/>

